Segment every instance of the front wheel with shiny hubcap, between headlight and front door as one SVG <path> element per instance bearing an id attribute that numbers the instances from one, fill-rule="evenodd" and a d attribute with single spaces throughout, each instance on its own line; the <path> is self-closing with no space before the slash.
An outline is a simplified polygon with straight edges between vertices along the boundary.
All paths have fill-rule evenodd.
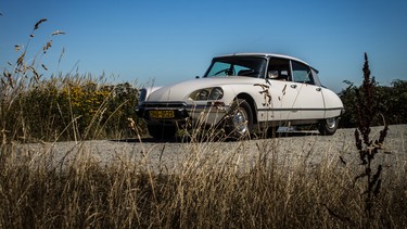
<path id="1" fill-rule="evenodd" d="M 253 130 L 253 112 L 245 100 L 238 99 L 230 106 L 226 120 L 226 135 L 232 139 L 249 138 Z"/>

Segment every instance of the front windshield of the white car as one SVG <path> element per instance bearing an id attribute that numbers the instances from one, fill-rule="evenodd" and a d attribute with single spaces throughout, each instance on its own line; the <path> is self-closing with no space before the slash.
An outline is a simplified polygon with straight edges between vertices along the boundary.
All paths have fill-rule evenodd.
<path id="1" fill-rule="evenodd" d="M 249 76 L 264 77 L 266 59 L 253 56 L 216 58 L 204 77 Z"/>

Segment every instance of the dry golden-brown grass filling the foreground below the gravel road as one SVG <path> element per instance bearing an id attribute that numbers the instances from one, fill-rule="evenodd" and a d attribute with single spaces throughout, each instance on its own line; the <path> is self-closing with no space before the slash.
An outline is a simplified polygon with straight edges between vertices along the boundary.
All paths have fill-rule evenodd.
<path id="1" fill-rule="evenodd" d="M 238 153 L 190 143 L 178 173 L 119 158 L 101 165 L 82 151 L 64 168 L 51 152 L 3 145 L 1 228 L 404 228 L 406 167 L 386 169 L 374 217 L 367 217 L 349 165 L 322 158 L 310 168 L 283 158 L 274 141 L 247 162 Z M 37 155 L 37 156 L 34 156 Z M 40 155 L 40 156 L 38 156 Z"/>

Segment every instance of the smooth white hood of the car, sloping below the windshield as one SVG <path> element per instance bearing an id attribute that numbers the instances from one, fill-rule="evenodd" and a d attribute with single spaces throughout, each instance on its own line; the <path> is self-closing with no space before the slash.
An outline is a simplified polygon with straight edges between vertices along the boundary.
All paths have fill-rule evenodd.
<path id="1" fill-rule="evenodd" d="M 222 87 L 225 85 L 249 85 L 253 84 L 252 77 L 229 76 L 222 78 L 199 78 L 182 81 L 171 86 L 162 87 L 153 91 L 147 101 L 187 101 L 188 97 L 195 90 Z"/>

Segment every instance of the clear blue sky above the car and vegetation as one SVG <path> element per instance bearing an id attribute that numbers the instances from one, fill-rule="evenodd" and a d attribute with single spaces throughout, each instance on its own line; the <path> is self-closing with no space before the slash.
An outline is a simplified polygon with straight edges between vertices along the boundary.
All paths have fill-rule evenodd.
<path id="1" fill-rule="evenodd" d="M 44 76 L 169 85 L 203 75 L 214 55 L 272 52 L 309 63 L 339 92 L 343 80 L 360 84 L 365 52 L 381 85 L 407 80 L 406 12 L 405 0 L 1 0 L 0 67 L 16 62 L 14 46 L 47 18 L 27 53 L 48 67 Z"/>

